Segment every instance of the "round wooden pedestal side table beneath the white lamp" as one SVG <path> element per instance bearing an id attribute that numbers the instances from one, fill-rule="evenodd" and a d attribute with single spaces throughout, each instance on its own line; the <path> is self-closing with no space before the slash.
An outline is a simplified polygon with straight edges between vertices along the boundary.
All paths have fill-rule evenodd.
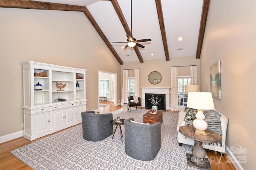
<path id="1" fill-rule="evenodd" d="M 195 141 L 192 147 L 192 154 L 187 153 L 186 155 L 188 166 L 203 170 L 212 170 L 209 160 L 204 158 L 205 151 L 202 143 L 219 143 L 221 142 L 221 136 L 209 129 L 205 130 L 207 135 L 196 134 L 193 126 L 181 126 L 179 127 L 179 131 L 182 135 Z"/>

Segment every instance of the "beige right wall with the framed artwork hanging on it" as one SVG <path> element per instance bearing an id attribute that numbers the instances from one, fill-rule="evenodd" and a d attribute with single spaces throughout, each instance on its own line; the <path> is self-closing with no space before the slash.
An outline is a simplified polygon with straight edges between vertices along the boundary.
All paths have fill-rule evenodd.
<path id="1" fill-rule="evenodd" d="M 229 118 L 226 145 L 245 170 L 256 167 L 256 1 L 210 2 L 200 58 L 201 90 L 210 92 L 210 66 L 221 61 L 222 99 Z M 242 149 L 246 152 L 242 152 Z"/>

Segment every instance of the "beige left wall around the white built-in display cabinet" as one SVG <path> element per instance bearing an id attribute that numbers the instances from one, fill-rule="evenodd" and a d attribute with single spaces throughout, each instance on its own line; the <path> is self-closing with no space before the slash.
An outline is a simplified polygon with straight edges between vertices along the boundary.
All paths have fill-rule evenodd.
<path id="1" fill-rule="evenodd" d="M 87 69 L 88 110 L 98 109 L 98 70 L 120 80 L 120 64 L 84 13 L 0 8 L 0 17 L 0 136 L 23 130 L 22 62 Z"/>

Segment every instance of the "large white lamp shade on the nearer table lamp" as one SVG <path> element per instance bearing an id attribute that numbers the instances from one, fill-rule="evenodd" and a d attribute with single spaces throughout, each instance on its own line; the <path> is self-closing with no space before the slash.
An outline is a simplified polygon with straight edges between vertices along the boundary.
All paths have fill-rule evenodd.
<path id="1" fill-rule="evenodd" d="M 214 109 L 211 92 L 188 92 L 187 107 L 194 109 Z"/>

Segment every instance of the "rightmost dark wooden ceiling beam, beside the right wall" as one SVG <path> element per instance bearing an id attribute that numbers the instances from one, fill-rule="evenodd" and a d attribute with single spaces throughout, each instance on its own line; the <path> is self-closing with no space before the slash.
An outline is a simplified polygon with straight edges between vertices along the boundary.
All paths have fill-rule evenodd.
<path id="1" fill-rule="evenodd" d="M 204 41 L 204 31 L 206 27 L 209 6 L 210 6 L 210 0 L 204 0 L 203 7 L 202 7 L 199 35 L 198 35 L 198 43 L 197 43 L 197 49 L 196 49 L 196 59 L 200 59 L 200 55 L 202 51 L 202 46 Z"/>

